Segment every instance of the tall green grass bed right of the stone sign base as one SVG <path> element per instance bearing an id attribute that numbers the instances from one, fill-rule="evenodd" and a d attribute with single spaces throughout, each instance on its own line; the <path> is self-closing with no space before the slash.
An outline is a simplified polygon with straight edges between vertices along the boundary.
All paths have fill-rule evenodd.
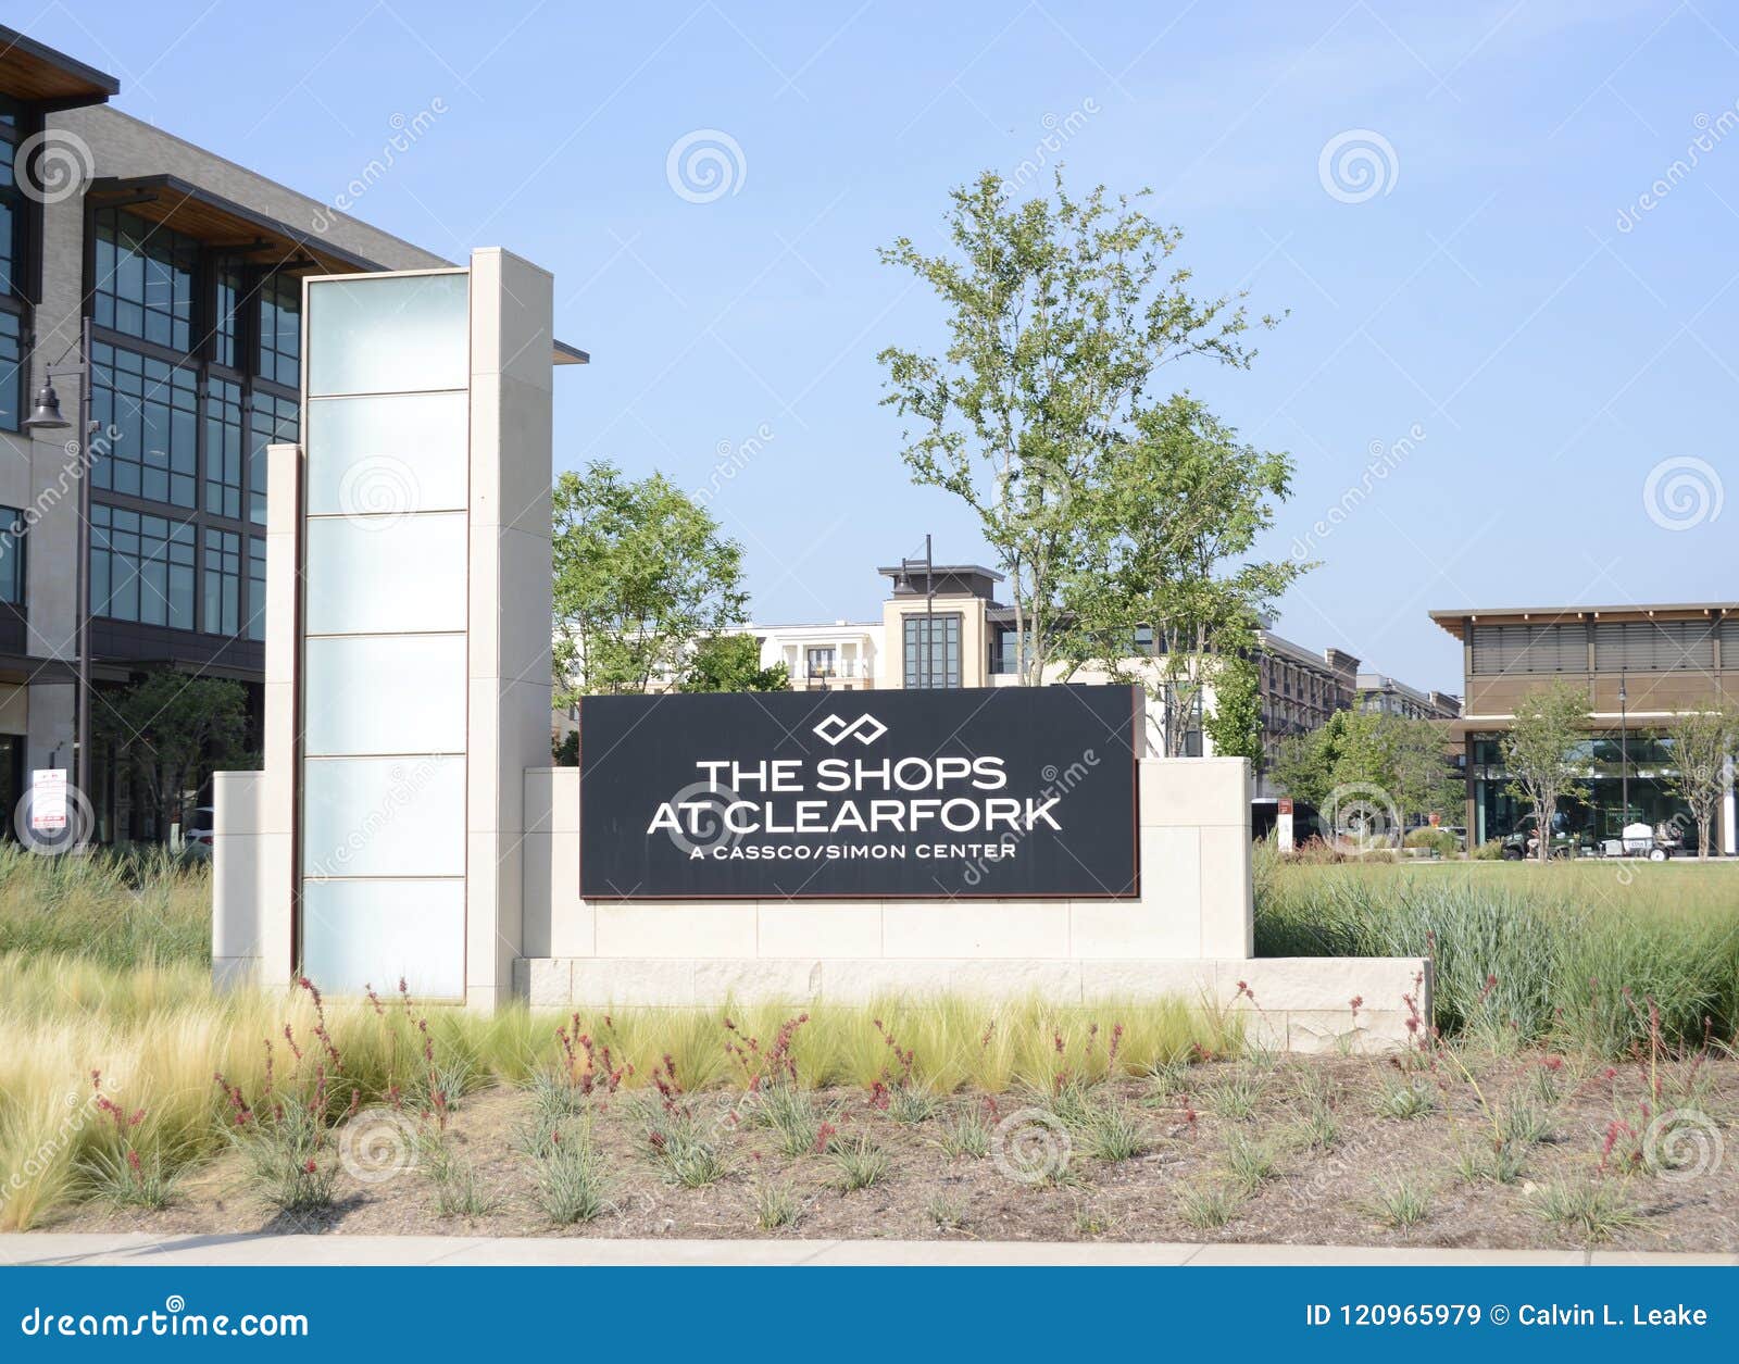
<path id="1" fill-rule="evenodd" d="M 1433 1023 L 1603 1054 L 1739 1037 L 1739 877 L 1730 866 L 1292 866 L 1257 851 L 1264 957 L 1431 957 Z"/>

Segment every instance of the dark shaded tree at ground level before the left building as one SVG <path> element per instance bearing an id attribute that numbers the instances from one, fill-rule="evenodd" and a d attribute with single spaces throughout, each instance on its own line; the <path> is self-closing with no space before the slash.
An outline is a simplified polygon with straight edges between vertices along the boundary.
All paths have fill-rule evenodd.
<path id="1" fill-rule="evenodd" d="M 158 668 L 99 691 L 90 717 L 97 746 L 115 753 L 117 771 L 136 781 L 165 835 L 205 778 L 257 766 L 240 682 Z"/>

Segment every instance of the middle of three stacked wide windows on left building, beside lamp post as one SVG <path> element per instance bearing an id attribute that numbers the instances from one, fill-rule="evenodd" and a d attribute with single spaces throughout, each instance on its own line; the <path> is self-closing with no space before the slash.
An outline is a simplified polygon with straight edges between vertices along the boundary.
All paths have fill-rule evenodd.
<path id="1" fill-rule="evenodd" d="M 92 485 L 193 506 L 198 459 L 195 372 L 97 343 L 90 346 L 90 378 L 97 428 L 117 431 L 92 466 Z"/>

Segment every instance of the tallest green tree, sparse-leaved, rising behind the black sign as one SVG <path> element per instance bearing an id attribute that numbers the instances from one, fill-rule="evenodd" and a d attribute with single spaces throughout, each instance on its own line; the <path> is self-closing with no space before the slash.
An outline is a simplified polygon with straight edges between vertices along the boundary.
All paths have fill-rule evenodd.
<path id="1" fill-rule="evenodd" d="M 1170 259 L 1181 233 L 1104 186 L 1071 198 L 1059 176 L 1052 197 L 1016 205 L 986 170 L 949 198 L 949 251 L 908 237 L 882 251 L 930 287 L 948 329 L 941 353 L 880 353 L 883 402 L 909 423 L 915 482 L 977 515 L 1007 579 L 1019 679 L 1035 685 L 1082 625 L 1063 585 L 1103 536 L 1104 465 L 1155 371 L 1186 355 L 1247 365 L 1249 320 L 1233 298 L 1196 298 Z"/>

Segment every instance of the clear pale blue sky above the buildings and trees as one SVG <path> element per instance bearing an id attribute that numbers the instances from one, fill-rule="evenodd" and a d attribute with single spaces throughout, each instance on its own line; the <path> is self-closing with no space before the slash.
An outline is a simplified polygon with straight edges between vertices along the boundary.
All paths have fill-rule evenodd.
<path id="1" fill-rule="evenodd" d="M 939 338 L 876 247 L 936 242 L 949 184 L 1054 127 L 1073 184 L 1156 191 L 1203 291 L 1290 310 L 1254 371 L 1169 376 L 1296 456 L 1273 552 L 1423 437 L 1316 543 L 1282 633 L 1457 689 L 1431 607 L 1739 597 L 1739 14 L 1713 0 L 10 9 L 122 110 L 323 200 L 442 101 L 356 214 L 556 273 L 593 353 L 560 374 L 558 468 L 703 487 L 770 435 L 715 503 L 756 619 L 873 614 L 875 565 L 925 531 L 983 555 L 876 405 L 876 351 Z M 690 202 L 666 162 L 703 129 L 741 162 Z M 1351 130 L 1386 143 L 1362 202 L 1332 157 L 1323 181 Z"/>

